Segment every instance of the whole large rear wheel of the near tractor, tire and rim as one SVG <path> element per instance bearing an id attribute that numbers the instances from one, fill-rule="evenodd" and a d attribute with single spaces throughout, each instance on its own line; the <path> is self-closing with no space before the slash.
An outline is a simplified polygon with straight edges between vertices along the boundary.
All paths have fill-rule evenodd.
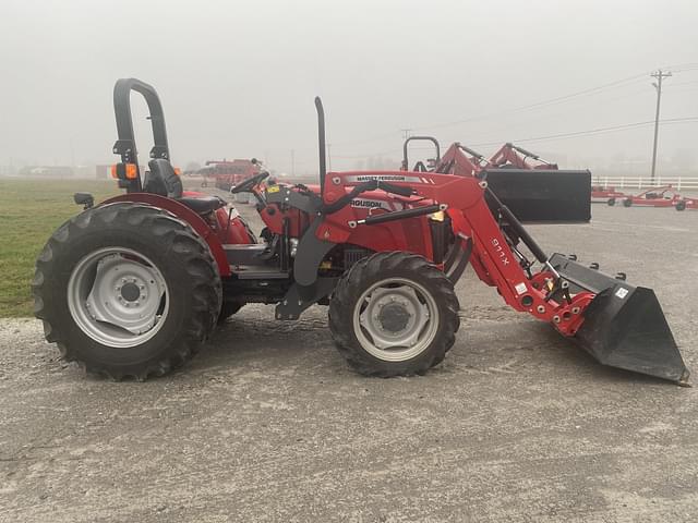
<path id="1" fill-rule="evenodd" d="M 34 311 L 49 342 L 87 372 L 163 376 L 216 325 L 221 284 L 207 244 L 184 221 L 120 203 L 63 223 L 36 260 Z"/>

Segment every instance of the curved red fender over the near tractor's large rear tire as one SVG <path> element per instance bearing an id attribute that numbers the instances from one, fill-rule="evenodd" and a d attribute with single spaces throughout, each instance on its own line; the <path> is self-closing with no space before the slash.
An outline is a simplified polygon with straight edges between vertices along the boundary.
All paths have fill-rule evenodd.
<path id="1" fill-rule="evenodd" d="M 194 231 L 196 231 L 196 233 L 202 236 L 208 244 L 210 254 L 216 260 L 216 265 L 218 265 L 218 272 L 220 273 L 220 276 L 230 276 L 228 258 L 226 257 L 226 252 L 222 248 L 220 239 L 218 238 L 216 232 L 210 227 L 208 227 L 208 223 L 206 223 L 203 218 L 192 209 L 174 199 L 166 198 L 165 196 L 159 196 L 157 194 L 151 193 L 122 194 L 120 196 L 109 198 L 99 205 L 118 204 L 122 202 L 146 204 L 152 205 L 153 207 L 159 207 L 160 209 L 165 209 L 177 216 L 179 219 L 189 223 L 191 228 L 194 229 Z"/>

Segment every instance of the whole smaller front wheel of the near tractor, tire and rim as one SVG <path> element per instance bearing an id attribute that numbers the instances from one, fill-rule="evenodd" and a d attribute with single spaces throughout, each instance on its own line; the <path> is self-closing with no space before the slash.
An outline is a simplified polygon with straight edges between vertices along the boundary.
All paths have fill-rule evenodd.
<path id="1" fill-rule="evenodd" d="M 329 330 L 366 376 L 424 374 L 444 360 L 460 325 L 453 283 L 422 256 L 377 253 L 358 262 L 329 302 Z"/>

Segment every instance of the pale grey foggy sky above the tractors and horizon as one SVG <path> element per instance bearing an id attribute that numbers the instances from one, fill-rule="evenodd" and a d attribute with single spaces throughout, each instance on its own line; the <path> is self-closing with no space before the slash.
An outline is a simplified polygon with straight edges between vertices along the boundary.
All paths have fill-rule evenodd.
<path id="1" fill-rule="evenodd" d="M 504 143 L 654 118 L 649 73 L 698 62 L 698 2 L 0 0 L 0 165 L 109 163 L 119 77 L 155 85 L 176 163 L 262 157 L 316 169 L 313 97 L 332 167 L 400 157 L 401 129 Z M 681 70 L 682 68 L 674 68 Z M 698 115 L 698 68 L 665 82 L 662 118 Z M 647 75 L 529 110 L 514 108 Z M 151 141 L 133 97 L 141 160 Z M 470 119 L 469 121 L 464 121 Z M 448 124 L 449 122 L 460 122 Z M 443 125 L 448 124 L 448 125 Z M 661 129 L 696 155 L 698 122 Z M 647 161 L 652 127 L 521 142 L 569 167 Z M 695 156 L 694 156 L 695 155 Z M 396 166 L 397 167 L 397 166 Z"/>

